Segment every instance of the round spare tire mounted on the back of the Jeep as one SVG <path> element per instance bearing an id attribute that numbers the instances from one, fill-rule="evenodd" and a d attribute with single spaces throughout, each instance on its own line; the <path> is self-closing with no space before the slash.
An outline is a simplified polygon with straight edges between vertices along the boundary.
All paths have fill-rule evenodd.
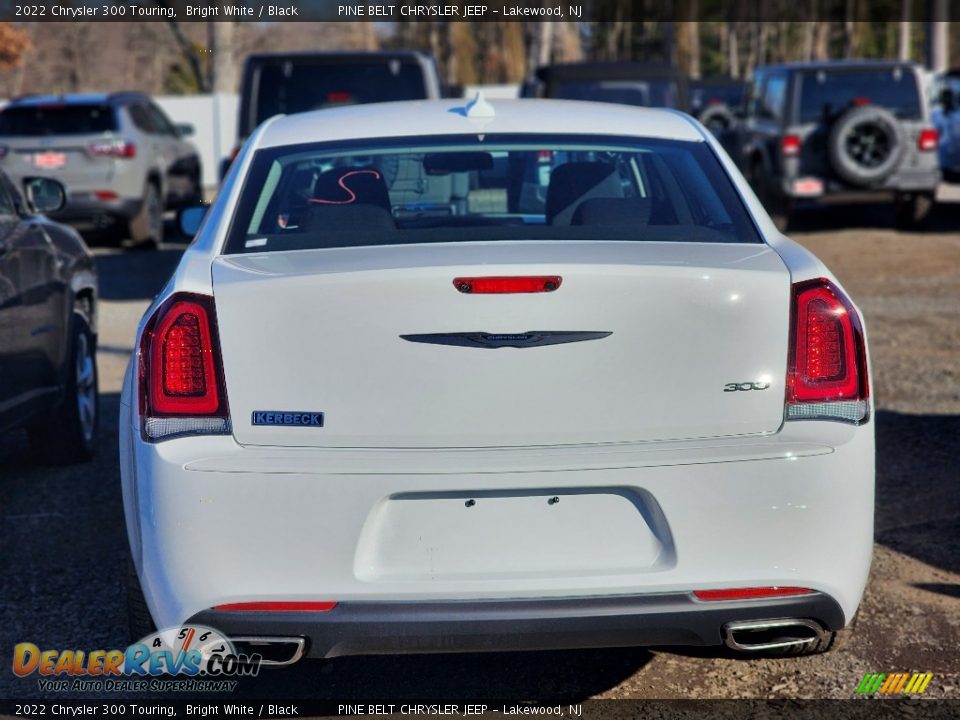
<path id="1" fill-rule="evenodd" d="M 873 105 L 847 110 L 827 139 L 830 165 L 851 185 L 874 185 L 888 178 L 899 166 L 904 148 L 900 123 Z"/>

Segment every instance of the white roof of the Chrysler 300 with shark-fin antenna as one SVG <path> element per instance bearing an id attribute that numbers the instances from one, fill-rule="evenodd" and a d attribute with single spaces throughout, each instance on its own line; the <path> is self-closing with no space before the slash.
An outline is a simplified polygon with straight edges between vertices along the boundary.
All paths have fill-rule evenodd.
<path id="1" fill-rule="evenodd" d="M 667 108 L 576 100 L 490 100 L 494 117 L 468 117 L 468 102 L 447 99 L 371 103 L 281 116 L 264 124 L 257 146 L 480 133 L 704 139 L 690 117 Z M 546 118 L 549 122 L 545 122 Z"/>

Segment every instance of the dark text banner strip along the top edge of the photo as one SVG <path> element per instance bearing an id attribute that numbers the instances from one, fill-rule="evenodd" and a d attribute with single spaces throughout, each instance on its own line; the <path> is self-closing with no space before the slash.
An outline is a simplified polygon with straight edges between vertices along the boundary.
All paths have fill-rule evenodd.
<path id="1" fill-rule="evenodd" d="M 917 5 L 916 8 L 912 8 Z M 0 0 L 9 22 L 703 22 L 847 19 L 849 0 Z M 864 21 L 925 19 L 926 3 L 869 3 Z"/>

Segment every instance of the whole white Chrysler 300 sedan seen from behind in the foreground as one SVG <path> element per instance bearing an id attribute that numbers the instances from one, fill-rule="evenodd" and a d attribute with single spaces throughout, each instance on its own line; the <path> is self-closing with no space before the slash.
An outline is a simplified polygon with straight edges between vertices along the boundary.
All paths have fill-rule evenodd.
<path id="1" fill-rule="evenodd" d="M 137 631 L 827 649 L 872 550 L 856 307 L 686 115 L 456 105 L 238 156 L 124 382 Z"/>

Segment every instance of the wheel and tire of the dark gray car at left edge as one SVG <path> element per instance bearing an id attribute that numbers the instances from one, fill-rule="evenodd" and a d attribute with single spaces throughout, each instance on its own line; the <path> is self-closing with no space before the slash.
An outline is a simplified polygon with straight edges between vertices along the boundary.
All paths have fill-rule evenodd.
<path id="1" fill-rule="evenodd" d="M 78 311 L 71 322 L 70 362 L 63 397 L 42 423 L 28 427 L 37 456 L 61 465 L 92 459 L 100 424 L 99 397 L 97 339 L 87 316 Z"/>

